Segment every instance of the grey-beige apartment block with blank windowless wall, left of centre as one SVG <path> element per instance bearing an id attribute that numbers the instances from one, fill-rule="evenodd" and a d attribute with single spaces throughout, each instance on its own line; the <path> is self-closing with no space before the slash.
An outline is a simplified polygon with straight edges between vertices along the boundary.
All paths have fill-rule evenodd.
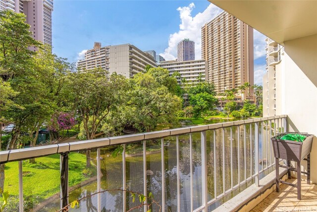
<path id="1" fill-rule="evenodd" d="M 97 42 L 94 49 L 85 53 L 85 59 L 77 62 L 79 70 L 100 67 L 110 74 L 116 72 L 127 78 L 144 71 L 147 65 L 157 67 L 156 60 L 131 44 L 101 47 L 101 43 Z"/>

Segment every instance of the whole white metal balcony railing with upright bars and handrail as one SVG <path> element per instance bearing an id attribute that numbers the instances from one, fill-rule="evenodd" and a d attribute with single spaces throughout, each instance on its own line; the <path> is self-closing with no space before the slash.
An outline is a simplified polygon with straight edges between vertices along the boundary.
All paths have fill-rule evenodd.
<path id="1" fill-rule="evenodd" d="M 24 180 L 23 175 L 26 172 L 24 172 L 25 167 L 22 165 L 23 160 L 42 157 L 53 158 L 54 155 L 59 158 L 60 156 L 60 164 L 57 163 L 57 166 L 60 166 L 57 168 L 60 175 L 47 176 L 44 173 L 46 180 L 41 182 L 38 179 L 40 183 L 47 184 L 54 177 L 57 179 L 72 177 L 68 173 L 73 170 L 68 171 L 68 168 L 65 168 L 68 167 L 69 163 L 73 164 L 75 162 L 71 159 L 71 153 L 87 150 L 95 151 L 97 176 L 92 178 L 91 182 L 96 185 L 93 191 L 101 192 L 105 190 L 105 185 L 102 184 L 101 179 L 103 175 L 101 166 L 105 163 L 108 164 L 108 167 L 118 165 L 117 163 L 111 164 L 111 160 L 107 158 L 102 159 L 101 151 L 104 152 L 105 147 L 122 145 L 123 152 L 120 160 L 122 169 L 116 169 L 121 173 L 114 176 L 116 184 L 111 186 L 117 186 L 123 191 L 118 196 L 113 196 L 113 192 L 107 193 L 107 195 L 98 193 L 92 196 L 91 198 L 94 199 L 91 204 L 98 212 L 102 211 L 103 207 L 112 207 L 120 211 L 131 209 L 135 203 L 132 203 L 131 198 L 129 199 L 127 190 L 133 189 L 137 189 L 145 195 L 152 192 L 156 201 L 159 202 L 162 212 L 211 211 L 224 201 L 224 197 L 226 197 L 225 200 L 232 198 L 238 191 L 243 190 L 242 188 L 245 189 L 250 186 L 252 184 L 250 182 L 259 186 L 260 178 L 274 170 L 275 160 L 270 138 L 278 133 L 286 132 L 286 118 L 286 115 L 282 115 L 0 151 L 0 163 L 12 164 L 17 163 L 13 161 L 18 161 L 19 165 L 16 168 L 18 169 L 19 178 L 16 180 L 17 182 L 14 181 L 11 184 L 19 185 L 17 192 L 19 194 L 19 211 L 23 212 L 23 189 L 30 186 L 27 185 L 30 184 L 29 178 Z M 152 155 L 157 154 L 159 160 L 153 161 L 154 156 L 151 156 L 151 151 L 147 150 L 148 141 L 156 141 L 159 150 L 152 152 Z M 142 150 L 140 150 L 139 156 L 136 156 L 140 159 L 140 164 L 135 162 L 138 161 L 136 158 L 128 159 L 133 157 L 126 153 L 126 144 L 131 142 L 140 144 Z M 77 165 L 80 166 L 80 164 Z M 42 164 L 42 166 L 45 166 L 45 164 Z M 137 167 L 140 168 L 139 171 Z M 153 172 L 150 169 L 156 172 L 149 173 Z M 131 180 L 133 174 L 137 175 L 134 181 Z M 108 174 L 105 175 L 104 177 L 110 178 Z M 150 178 L 149 175 L 154 175 L 154 177 Z M 60 194 L 56 194 L 58 198 L 56 199 L 57 203 L 55 201 L 55 210 L 56 207 L 67 205 L 68 201 L 76 200 L 71 199 L 74 198 L 73 194 L 68 195 L 71 192 L 68 181 L 71 182 L 71 180 L 66 180 L 66 182 L 61 183 Z M 139 186 L 134 184 L 135 181 L 138 181 Z M 80 184 L 76 186 L 81 192 L 84 191 L 81 194 L 82 196 L 88 195 L 88 186 L 80 186 Z M 58 201 L 60 201 L 60 206 Z M 44 200 L 37 203 L 33 209 L 39 210 L 40 208 L 36 207 L 44 207 L 44 203 L 52 202 Z M 81 210 L 85 211 L 85 207 L 88 207 L 88 205 L 88 201 L 87 204 L 81 204 Z M 122 208 L 118 209 L 118 207 Z M 86 210 L 88 211 L 88 209 Z M 146 205 L 144 210 L 148 210 Z"/>

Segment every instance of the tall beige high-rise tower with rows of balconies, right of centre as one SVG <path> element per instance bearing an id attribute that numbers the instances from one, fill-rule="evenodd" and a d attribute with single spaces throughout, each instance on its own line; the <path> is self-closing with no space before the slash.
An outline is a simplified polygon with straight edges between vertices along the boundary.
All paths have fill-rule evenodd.
<path id="1" fill-rule="evenodd" d="M 220 13 L 202 27 L 202 59 L 218 95 L 245 82 L 253 85 L 253 28 L 225 11 Z M 253 89 L 249 90 L 252 95 Z"/>

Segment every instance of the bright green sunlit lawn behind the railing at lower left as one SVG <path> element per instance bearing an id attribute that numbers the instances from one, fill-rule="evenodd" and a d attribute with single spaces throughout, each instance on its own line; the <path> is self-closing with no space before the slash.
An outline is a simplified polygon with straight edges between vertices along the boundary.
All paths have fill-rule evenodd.
<path id="1" fill-rule="evenodd" d="M 60 191 L 60 160 L 59 155 L 54 154 L 36 158 L 35 161 L 36 163 L 29 163 L 29 160 L 23 161 L 23 193 L 26 196 L 32 195 L 41 202 Z M 89 178 L 83 174 L 87 172 L 85 154 L 70 152 L 68 166 L 69 186 Z M 17 196 L 19 194 L 18 162 L 6 163 L 4 173 L 4 191 Z"/>

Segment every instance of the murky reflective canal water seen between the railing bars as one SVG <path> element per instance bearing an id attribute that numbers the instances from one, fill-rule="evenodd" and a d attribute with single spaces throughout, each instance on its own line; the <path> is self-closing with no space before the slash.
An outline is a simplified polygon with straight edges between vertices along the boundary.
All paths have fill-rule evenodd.
<path id="1" fill-rule="evenodd" d="M 238 134 L 239 128 L 239 134 Z M 207 131 L 207 167 L 208 167 L 208 200 L 215 197 L 214 193 L 214 163 L 216 164 L 216 195 L 220 195 L 223 191 L 235 186 L 245 178 L 249 178 L 255 173 L 256 165 L 259 170 L 265 168 L 267 165 L 273 163 L 272 152 L 270 151 L 270 138 L 273 132 L 264 124 L 264 133 L 262 132 L 262 125 L 259 126 L 259 161 L 255 161 L 255 124 L 246 126 L 234 126 L 232 131 L 232 167 L 233 167 L 233 181 L 231 182 L 231 158 L 230 158 L 230 128 L 217 129 L 214 131 Z M 223 155 L 223 132 L 224 132 L 224 155 Z M 244 134 L 245 132 L 245 134 Z M 214 135 L 215 134 L 215 135 Z M 215 147 L 213 138 L 215 137 Z M 238 138 L 240 144 L 238 145 Z M 245 138 L 245 139 L 244 139 Z M 180 210 L 182 212 L 190 211 L 191 198 L 193 198 L 194 209 L 202 204 L 202 187 L 201 187 L 201 134 L 192 134 L 192 155 L 193 162 L 190 163 L 190 136 L 179 136 L 179 172 L 180 172 Z M 267 145 L 266 145 L 267 141 Z M 177 154 L 176 154 L 176 137 L 164 138 L 164 158 L 161 158 L 160 146 L 161 140 L 146 141 L 147 145 L 147 192 L 153 194 L 154 200 L 161 206 L 162 197 L 162 170 L 161 160 L 164 160 L 164 199 L 165 211 L 177 211 Z M 102 170 L 102 190 L 122 189 L 123 169 L 122 169 L 122 155 L 117 155 L 113 158 L 111 152 L 115 146 L 101 149 L 101 170 Z M 126 154 L 126 188 L 127 190 L 143 194 L 143 143 L 142 141 L 127 144 Z M 239 149 L 239 150 L 238 150 Z M 267 150 L 267 151 L 266 151 Z M 215 151 L 215 157 L 214 157 Z M 83 154 L 85 152 L 82 152 Z M 96 158 L 97 151 L 91 151 L 91 157 Z M 246 161 L 244 160 L 246 156 Z M 214 161 L 215 160 L 215 161 Z M 76 158 L 70 155 L 69 162 L 76 162 Z M 96 160 L 92 160 L 97 164 Z M 224 164 L 224 166 L 223 166 Z M 190 166 L 193 169 L 193 196 L 190 193 Z M 262 166 L 263 165 L 263 166 Z M 95 166 L 93 166 L 95 167 Z M 238 175 L 238 167 L 240 168 L 240 176 Z M 246 170 L 246 171 L 245 171 Z M 270 170 L 268 170 L 270 171 Z M 268 173 L 268 171 L 261 174 L 261 178 Z M 225 183 L 223 183 L 223 173 Z M 69 181 L 72 181 L 72 176 L 69 176 Z M 253 183 L 250 182 L 239 187 L 235 191 L 229 193 L 221 200 L 214 203 L 209 210 L 212 210 L 223 202 L 231 199 L 233 196 L 246 189 Z M 224 185 L 224 187 L 223 187 Z M 97 181 L 80 186 L 77 189 L 69 192 L 69 202 L 89 196 L 97 192 Z M 127 210 L 140 205 L 138 195 L 136 195 L 135 202 L 132 201 L 131 194 L 127 193 L 126 200 L 123 200 L 122 191 L 106 191 L 101 195 L 102 212 L 122 212 L 123 201 L 126 202 Z M 159 206 L 151 205 L 152 212 L 158 212 Z M 41 211 L 55 212 L 60 207 L 59 199 L 45 206 Z M 133 211 L 143 211 L 143 207 Z M 70 209 L 70 212 L 95 212 L 97 211 L 97 195 L 84 199 L 77 209 Z"/>

